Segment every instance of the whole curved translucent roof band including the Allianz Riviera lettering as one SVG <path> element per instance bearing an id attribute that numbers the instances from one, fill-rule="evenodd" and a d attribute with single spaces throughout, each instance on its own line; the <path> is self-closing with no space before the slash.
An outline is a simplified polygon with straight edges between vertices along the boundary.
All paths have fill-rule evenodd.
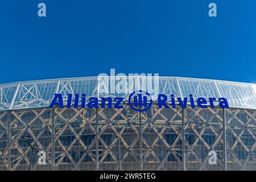
<path id="1" fill-rule="evenodd" d="M 123 105 L 138 109 L 150 105 L 151 99 L 154 107 L 174 108 L 179 105 L 193 108 L 197 105 L 255 110 L 256 84 L 139 75 L 60 78 L 0 85 L 0 111 L 49 107 L 52 104 L 102 108 Z"/>

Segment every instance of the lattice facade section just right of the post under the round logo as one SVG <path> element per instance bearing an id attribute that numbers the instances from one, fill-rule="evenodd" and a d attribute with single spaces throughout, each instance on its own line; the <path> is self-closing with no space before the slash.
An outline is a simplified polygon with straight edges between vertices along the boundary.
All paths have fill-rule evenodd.
<path id="1" fill-rule="evenodd" d="M 158 109 L 153 107 L 150 112 L 143 113 L 142 119 L 145 121 L 142 133 L 148 130 L 146 139 L 146 152 L 143 156 L 144 163 L 152 163 L 148 159 L 150 155 L 153 157 L 156 164 L 151 165 L 149 169 L 153 170 L 168 170 L 174 169 L 172 166 L 177 166 L 176 169 L 182 169 L 181 161 L 181 108 L 179 109 Z M 174 141 L 167 141 L 164 137 L 165 134 L 175 134 Z M 162 143 L 162 144 L 159 144 Z M 180 142 L 180 143 L 179 143 Z M 164 153 L 163 156 L 159 156 L 159 150 Z M 170 163 L 168 158 L 170 155 L 174 156 L 174 161 Z M 168 164 L 168 162 L 170 164 Z"/>

